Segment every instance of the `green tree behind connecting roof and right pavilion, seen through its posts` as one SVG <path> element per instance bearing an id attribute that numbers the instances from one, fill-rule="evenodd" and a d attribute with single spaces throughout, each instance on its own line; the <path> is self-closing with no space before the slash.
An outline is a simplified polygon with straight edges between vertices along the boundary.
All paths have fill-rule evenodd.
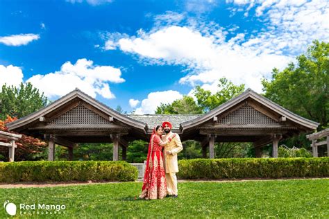
<path id="1" fill-rule="evenodd" d="M 160 104 L 155 114 L 203 114 L 225 103 L 244 91 L 244 85 L 234 85 L 226 78 L 219 79 L 219 91 L 212 94 L 211 91 L 197 86 L 194 98 L 183 96 L 171 104 Z M 183 151 L 178 154 L 180 159 L 192 159 L 202 157 L 201 146 L 196 141 L 185 141 Z M 246 143 L 219 143 L 216 144 L 216 157 L 246 157 L 251 154 L 252 147 Z"/>

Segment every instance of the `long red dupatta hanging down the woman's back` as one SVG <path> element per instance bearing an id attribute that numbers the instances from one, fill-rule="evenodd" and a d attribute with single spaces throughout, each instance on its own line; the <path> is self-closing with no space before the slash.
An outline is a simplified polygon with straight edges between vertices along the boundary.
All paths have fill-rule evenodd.
<path id="1" fill-rule="evenodd" d="M 151 173 L 152 173 L 152 151 L 153 151 L 153 139 L 155 137 L 156 131 L 155 128 L 153 129 L 153 132 L 151 134 L 151 139 L 149 143 L 149 151 L 147 152 L 147 159 L 146 159 L 146 166 L 145 166 L 145 173 L 144 173 L 144 181 L 143 181 L 143 187 L 142 187 L 142 194 L 140 195 L 140 198 L 145 198 L 147 195 L 147 192 L 149 191 L 149 182 L 151 179 Z"/>

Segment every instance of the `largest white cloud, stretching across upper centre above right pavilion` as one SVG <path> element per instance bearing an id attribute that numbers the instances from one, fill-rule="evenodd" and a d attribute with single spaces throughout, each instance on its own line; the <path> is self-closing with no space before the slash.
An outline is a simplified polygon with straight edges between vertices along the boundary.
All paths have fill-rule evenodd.
<path id="1" fill-rule="evenodd" d="M 203 35 L 190 27 L 168 26 L 142 37 L 123 38 L 118 44 L 122 51 L 137 53 L 153 63 L 187 67 L 189 73 L 180 78 L 180 83 L 190 85 L 207 83 L 216 87 L 218 79 L 226 77 L 236 84 L 246 83 L 247 87 L 261 91 L 260 79 L 273 67 L 284 67 L 292 60 L 267 48 L 244 46 L 241 44 L 243 34 L 228 42 L 217 37 L 220 35 L 225 34 Z"/>

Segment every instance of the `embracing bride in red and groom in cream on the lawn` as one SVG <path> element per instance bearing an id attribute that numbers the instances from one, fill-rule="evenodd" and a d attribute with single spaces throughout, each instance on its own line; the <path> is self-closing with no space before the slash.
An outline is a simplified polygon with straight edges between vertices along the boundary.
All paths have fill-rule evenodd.
<path id="1" fill-rule="evenodd" d="M 167 195 L 177 198 L 177 154 L 183 146 L 171 128 L 171 123 L 164 122 L 153 129 L 140 198 L 162 199 Z"/>

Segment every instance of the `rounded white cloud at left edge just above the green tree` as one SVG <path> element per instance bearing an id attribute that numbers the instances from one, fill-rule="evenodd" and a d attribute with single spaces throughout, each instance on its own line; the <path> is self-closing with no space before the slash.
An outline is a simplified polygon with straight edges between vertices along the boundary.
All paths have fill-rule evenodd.
<path id="1" fill-rule="evenodd" d="M 7 86 L 13 85 L 14 87 L 18 86 L 23 82 L 23 72 L 19 67 L 12 65 L 3 66 L 0 65 L 0 91 L 2 85 L 6 84 Z"/>

